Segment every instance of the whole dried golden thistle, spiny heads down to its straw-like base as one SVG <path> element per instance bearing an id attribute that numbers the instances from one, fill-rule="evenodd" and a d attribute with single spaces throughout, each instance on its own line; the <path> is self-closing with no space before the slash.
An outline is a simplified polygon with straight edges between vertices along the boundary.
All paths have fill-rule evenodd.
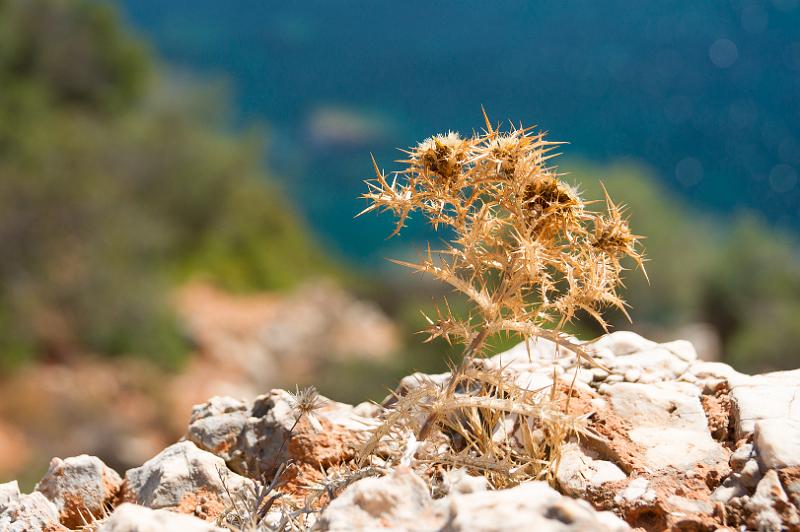
<path id="1" fill-rule="evenodd" d="M 545 338 L 597 365 L 585 345 L 562 328 L 585 314 L 607 330 L 603 311 L 608 308 L 627 316 L 618 293 L 623 262 L 627 258 L 644 271 L 644 257 L 623 207 L 607 192 L 603 200 L 583 200 L 550 164 L 561 143 L 513 124 L 503 131 L 492 126 L 485 112 L 484 119 L 485 130 L 470 137 L 449 132 L 424 140 L 405 152 L 408 157 L 399 161 L 404 168 L 389 176 L 373 158 L 375 178 L 367 181 L 369 190 L 362 196 L 369 205 L 360 214 L 394 214 L 391 236 L 413 213 L 444 230 L 449 240 L 442 249 L 429 245 L 419 262 L 395 262 L 450 285 L 466 296 L 470 311 L 457 316 L 445 301 L 435 319 L 426 316 L 427 341 L 463 343 L 463 361 L 444 387 L 421 386 L 397 398 L 365 452 L 396 431 L 412 430 L 418 440 L 426 440 L 440 429 L 451 447 L 458 441 L 464 451 L 439 454 L 436 460 L 472 461 L 483 472 L 502 471 L 506 482 L 519 471 L 527 471 L 528 478 L 545 470 L 552 474 L 547 468 L 532 469 L 526 460 L 557 463 L 558 442 L 586 430 L 577 418 L 559 411 L 557 401 L 535 400 L 503 383 L 499 374 L 475 373 L 475 359 L 487 339 L 496 334 Z M 601 208 L 593 208 L 598 204 Z M 421 412 L 424 421 L 418 423 Z M 507 415 L 525 420 L 524 441 L 493 444 L 496 427 Z M 524 437 L 535 427 L 544 429 L 544 440 L 530 433 Z M 541 448 L 531 447 L 542 441 L 546 445 Z"/>

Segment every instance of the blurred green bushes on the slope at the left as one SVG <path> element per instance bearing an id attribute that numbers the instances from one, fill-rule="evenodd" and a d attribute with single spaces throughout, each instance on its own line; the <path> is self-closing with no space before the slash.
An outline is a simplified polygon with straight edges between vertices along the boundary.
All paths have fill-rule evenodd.
<path id="1" fill-rule="evenodd" d="M 229 131 L 110 5 L 0 0 L 0 370 L 36 355 L 185 352 L 169 288 L 282 289 L 333 268 Z"/>

